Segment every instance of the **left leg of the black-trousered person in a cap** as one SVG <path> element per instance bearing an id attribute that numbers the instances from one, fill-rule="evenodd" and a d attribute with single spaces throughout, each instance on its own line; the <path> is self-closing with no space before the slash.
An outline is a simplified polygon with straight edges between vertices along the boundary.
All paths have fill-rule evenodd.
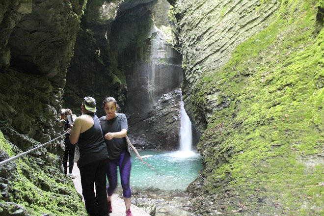
<path id="1" fill-rule="evenodd" d="M 90 216 L 96 216 L 98 214 L 98 205 L 93 189 L 97 166 L 98 162 L 80 166 L 82 195 L 84 198 L 85 209 Z"/>

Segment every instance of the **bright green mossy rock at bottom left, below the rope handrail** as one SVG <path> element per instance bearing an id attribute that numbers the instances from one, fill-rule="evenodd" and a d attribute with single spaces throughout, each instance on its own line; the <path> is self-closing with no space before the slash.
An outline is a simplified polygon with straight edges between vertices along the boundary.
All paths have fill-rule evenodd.
<path id="1" fill-rule="evenodd" d="M 42 168 L 27 158 L 19 159 L 17 171 L 19 179 L 10 182 L 12 201 L 31 215 L 86 215 L 81 197 L 64 174 L 53 173 L 52 168 Z"/>

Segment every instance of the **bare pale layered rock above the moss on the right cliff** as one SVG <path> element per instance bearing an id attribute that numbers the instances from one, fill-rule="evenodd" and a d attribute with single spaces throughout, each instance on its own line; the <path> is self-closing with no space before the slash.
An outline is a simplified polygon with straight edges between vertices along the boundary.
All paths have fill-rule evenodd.
<path id="1" fill-rule="evenodd" d="M 253 1 L 175 1 L 175 43 L 182 47 L 185 107 L 199 130 L 204 130 L 213 110 L 226 103 L 207 99 L 208 107 L 192 105 L 193 86 L 206 72 L 214 72 L 231 57 L 236 46 L 269 25 L 267 19 L 277 10 L 277 0 L 260 4 Z M 226 99 L 225 99 L 226 100 Z"/>

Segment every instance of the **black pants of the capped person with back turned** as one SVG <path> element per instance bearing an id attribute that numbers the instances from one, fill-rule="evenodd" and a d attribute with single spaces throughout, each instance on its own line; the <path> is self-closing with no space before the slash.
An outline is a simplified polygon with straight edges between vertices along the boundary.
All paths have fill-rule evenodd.
<path id="1" fill-rule="evenodd" d="M 90 216 L 108 216 L 106 170 L 108 159 L 80 166 L 82 195 Z M 96 185 L 96 193 L 94 192 Z"/>

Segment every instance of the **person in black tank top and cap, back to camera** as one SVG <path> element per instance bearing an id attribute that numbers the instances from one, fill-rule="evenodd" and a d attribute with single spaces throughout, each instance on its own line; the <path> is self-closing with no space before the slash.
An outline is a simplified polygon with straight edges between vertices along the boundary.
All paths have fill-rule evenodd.
<path id="1" fill-rule="evenodd" d="M 83 98 L 82 115 L 77 117 L 70 134 L 72 144 L 80 149 L 79 169 L 85 209 L 90 216 L 108 216 L 106 171 L 108 151 L 100 121 L 95 114 L 96 101 Z M 94 192 L 96 185 L 96 193 Z"/>

